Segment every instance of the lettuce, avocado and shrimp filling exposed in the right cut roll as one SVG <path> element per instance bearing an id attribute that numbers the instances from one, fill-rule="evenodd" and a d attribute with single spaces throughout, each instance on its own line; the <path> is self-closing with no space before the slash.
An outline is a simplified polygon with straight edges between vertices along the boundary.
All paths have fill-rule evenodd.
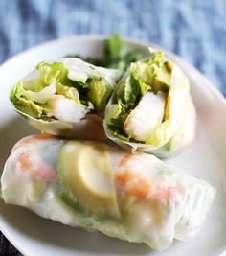
<path id="1" fill-rule="evenodd" d="M 156 51 L 131 63 L 106 113 L 108 130 L 124 141 L 149 143 L 151 132 L 166 121 L 173 65 Z"/>

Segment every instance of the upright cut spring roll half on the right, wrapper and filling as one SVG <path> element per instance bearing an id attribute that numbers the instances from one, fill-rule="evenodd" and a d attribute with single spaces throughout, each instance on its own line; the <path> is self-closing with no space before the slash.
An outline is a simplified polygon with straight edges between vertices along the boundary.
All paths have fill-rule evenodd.
<path id="1" fill-rule="evenodd" d="M 104 129 L 125 150 L 166 157 L 188 146 L 195 129 L 188 79 L 162 51 L 131 63 L 106 106 Z"/>

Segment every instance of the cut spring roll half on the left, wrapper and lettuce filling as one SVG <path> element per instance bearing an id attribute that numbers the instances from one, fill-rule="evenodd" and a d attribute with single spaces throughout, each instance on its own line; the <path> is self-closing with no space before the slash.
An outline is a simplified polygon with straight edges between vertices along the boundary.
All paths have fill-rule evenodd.
<path id="1" fill-rule="evenodd" d="M 40 62 L 11 90 L 11 103 L 34 128 L 69 138 L 101 139 L 102 116 L 118 71 L 79 58 Z"/>

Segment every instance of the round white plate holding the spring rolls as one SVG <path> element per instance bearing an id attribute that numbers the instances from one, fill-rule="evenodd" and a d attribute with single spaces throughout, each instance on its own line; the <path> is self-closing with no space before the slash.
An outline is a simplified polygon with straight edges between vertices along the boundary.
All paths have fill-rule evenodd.
<path id="1" fill-rule="evenodd" d="M 125 40 L 127 47 L 148 53 L 147 44 Z M 78 36 L 51 41 L 34 47 L 0 67 L 0 175 L 12 145 L 25 135 L 35 133 L 16 115 L 8 99 L 11 85 L 30 71 L 38 61 L 79 53 L 102 55 L 103 37 Z M 148 44 L 150 46 L 150 44 Z M 153 47 L 153 45 L 152 45 Z M 193 53 L 195 54 L 195 53 Z M 100 233 L 88 233 L 35 216 L 0 199 L 0 228 L 23 254 L 39 255 L 223 255 L 226 249 L 226 102 L 192 66 L 168 53 L 182 67 L 192 85 L 198 122 L 194 143 L 167 161 L 198 175 L 217 189 L 217 197 L 200 232 L 189 243 L 175 242 L 158 253 L 145 244 L 129 244 Z M 226 252 L 225 252 L 226 253 Z"/>

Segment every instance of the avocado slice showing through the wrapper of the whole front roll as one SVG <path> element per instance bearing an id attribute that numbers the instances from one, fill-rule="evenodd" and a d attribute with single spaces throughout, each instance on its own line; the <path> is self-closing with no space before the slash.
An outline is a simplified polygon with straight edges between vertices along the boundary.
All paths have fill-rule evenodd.
<path id="1" fill-rule="evenodd" d="M 102 143 L 66 142 L 59 150 L 57 172 L 75 204 L 97 215 L 120 217 L 111 162 Z"/>

